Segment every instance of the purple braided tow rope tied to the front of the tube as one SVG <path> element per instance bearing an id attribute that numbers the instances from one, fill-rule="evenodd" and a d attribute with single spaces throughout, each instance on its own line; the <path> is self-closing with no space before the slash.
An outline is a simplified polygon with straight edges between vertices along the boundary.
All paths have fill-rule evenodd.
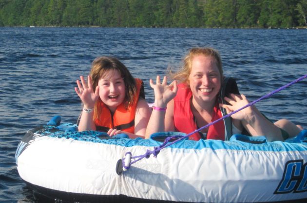
<path id="1" fill-rule="evenodd" d="M 161 145 L 158 146 L 158 147 L 153 147 L 153 151 L 147 150 L 146 153 L 145 153 L 144 155 L 131 157 L 131 159 L 136 159 L 136 158 L 138 158 L 138 159 L 134 160 L 133 162 L 130 162 L 130 165 L 132 165 L 132 164 L 135 163 L 135 162 L 140 161 L 140 160 L 143 159 L 143 158 L 148 159 L 148 158 L 150 157 L 151 154 L 153 154 L 153 156 L 156 157 L 156 156 L 159 154 L 159 152 L 160 152 L 161 149 L 163 149 L 163 148 L 165 148 L 165 147 L 167 147 L 167 146 L 170 146 L 170 145 L 172 145 L 172 144 L 174 144 L 174 143 L 176 143 L 176 142 L 179 142 L 179 141 L 181 141 L 181 140 L 183 140 L 183 139 L 185 139 L 185 138 L 188 138 L 188 137 L 191 136 L 192 134 L 194 134 L 194 133 L 196 133 L 196 132 L 199 132 L 199 131 L 201 131 L 202 129 L 207 128 L 207 127 L 209 127 L 210 125 L 213 125 L 214 123 L 219 122 L 219 121 L 221 121 L 221 120 L 223 120 L 223 119 L 225 119 L 225 118 L 227 118 L 227 117 L 230 117 L 231 115 L 237 113 L 238 111 L 241 111 L 242 109 L 245 109 L 245 108 L 247 108 L 247 107 L 249 107 L 249 106 L 251 106 L 251 105 L 253 105 L 253 104 L 255 104 L 255 103 L 257 103 L 257 102 L 259 102 L 259 101 L 261 101 L 261 100 L 263 100 L 263 99 L 269 98 L 271 95 L 273 95 L 273 94 L 275 94 L 275 93 L 277 93 L 277 92 L 279 92 L 279 91 L 281 91 L 281 90 L 287 88 L 288 86 L 290 86 L 290 85 L 292 85 L 292 84 L 294 84 L 294 83 L 296 83 L 296 82 L 298 82 L 298 81 L 302 81 L 302 80 L 304 80 L 305 78 L 307 78 L 307 75 L 304 75 L 304 76 L 302 76 L 301 78 L 298 78 L 298 79 L 296 79 L 296 80 L 294 80 L 294 81 L 292 81 L 292 82 L 290 82 L 290 83 L 288 83 L 288 84 L 286 84 L 286 85 L 284 85 L 284 86 L 282 86 L 282 87 L 280 87 L 280 88 L 278 88 L 278 89 L 276 89 L 276 90 L 270 92 L 269 94 L 267 94 L 267 95 L 265 95 L 265 96 L 263 96 L 263 97 L 261 97 L 261 98 L 255 100 L 255 101 L 253 101 L 253 102 L 249 102 L 247 105 L 245 105 L 245 106 L 243 106 L 243 107 L 241 107 L 241 108 L 239 108 L 239 109 L 237 109 L 237 110 L 231 112 L 230 114 L 227 114 L 226 116 L 223 116 L 223 117 L 220 118 L 220 119 L 217 119 L 217 120 L 215 120 L 215 121 L 213 121 L 213 122 L 211 122 L 211 123 L 209 123 L 209 124 L 207 124 L 207 125 L 205 125 L 205 126 L 199 128 L 199 129 L 197 129 L 197 130 L 195 130 L 195 131 L 193 131 L 193 132 L 191 132 L 191 133 L 189 133 L 189 134 L 187 134 L 187 135 L 185 135 L 185 136 L 178 136 L 178 135 L 176 135 L 176 136 L 172 136 L 172 137 L 167 137 L 167 138 L 164 140 L 163 144 L 161 144 Z M 178 139 L 177 139 L 177 138 L 178 138 Z M 175 141 L 173 141 L 173 142 L 169 142 L 171 139 L 177 139 L 177 140 L 175 140 Z M 169 143 L 168 143 L 168 142 L 169 142 Z"/>

